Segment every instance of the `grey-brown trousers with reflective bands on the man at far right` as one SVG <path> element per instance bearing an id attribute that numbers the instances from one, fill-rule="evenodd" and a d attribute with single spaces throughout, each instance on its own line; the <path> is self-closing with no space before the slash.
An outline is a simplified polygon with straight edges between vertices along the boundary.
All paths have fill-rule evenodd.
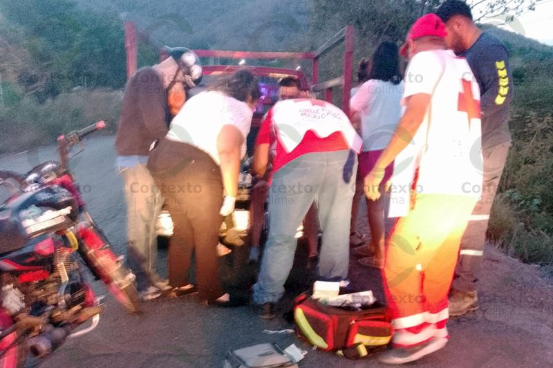
<path id="1" fill-rule="evenodd" d="M 460 291 L 476 291 L 480 277 L 480 262 L 484 255 L 484 243 L 488 228 L 491 205 L 503 174 L 507 153 L 511 142 L 505 142 L 482 150 L 483 183 L 480 188 L 471 188 L 479 195 L 469 226 L 462 236 L 455 278 L 451 287 Z"/>

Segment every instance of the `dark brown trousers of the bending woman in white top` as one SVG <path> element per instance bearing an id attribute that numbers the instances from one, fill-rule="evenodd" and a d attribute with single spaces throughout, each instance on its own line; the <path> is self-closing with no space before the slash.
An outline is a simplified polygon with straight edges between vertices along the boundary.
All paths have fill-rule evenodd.
<path id="1" fill-rule="evenodd" d="M 200 298 L 216 300 L 223 296 L 216 251 L 223 222 L 221 169 L 204 151 L 169 139 L 151 151 L 148 168 L 175 226 L 169 244 L 169 284 L 189 284 L 194 253 Z"/>

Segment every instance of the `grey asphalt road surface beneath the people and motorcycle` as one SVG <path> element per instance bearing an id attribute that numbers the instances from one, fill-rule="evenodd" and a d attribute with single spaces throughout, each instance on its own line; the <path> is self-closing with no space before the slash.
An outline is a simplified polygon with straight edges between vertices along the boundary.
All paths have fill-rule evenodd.
<path id="1" fill-rule="evenodd" d="M 35 164 L 55 158 L 48 147 L 19 155 L 0 157 L 0 169 L 25 172 Z M 86 149 L 74 159 L 77 181 L 84 191 L 88 209 L 104 229 L 117 253 L 125 251 L 125 214 L 122 182 L 115 170 L 113 137 L 86 141 Z M 361 213 L 365 213 L 361 206 Z M 366 215 L 358 229 L 368 233 Z M 158 269 L 166 274 L 167 255 L 160 249 Z M 255 269 L 245 264 L 247 245 L 221 258 L 226 284 L 247 288 Z M 291 298 L 310 287 L 312 275 L 304 271 L 306 246 L 300 244 L 288 293 L 279 306 L 284 313 Z M 447 347 L 411 367 L 552 367 L 553 287 L 537 267 L 508 258 L 491 246 L 486 249 L 480 284 L 480 309 L 450 320 L 451 340 Z M 350 278 L 357 289 L 371 289 L 379 300 L 382 286 L 379 272 L 357 264 L 352 256 Z M 205 307 L 197 296 L 178 300 L 160 298 L 144 303 L 144 313 L 131 316 L 106 293 L 107 309 L 100 325 L 86 336 L 66 341 L 50 357 L 35 363 L 39 367 L 222 367 L 225 352 L 262 342 L 281 347 L 292 343 L 308 351 L 300 367 L 381 366 L 375 358 L 348 360 L 315 351 L 290 334 L 269 334 L 293 328 L 284 318 L 259 319 L 248 307 L 222 309 Z"/>

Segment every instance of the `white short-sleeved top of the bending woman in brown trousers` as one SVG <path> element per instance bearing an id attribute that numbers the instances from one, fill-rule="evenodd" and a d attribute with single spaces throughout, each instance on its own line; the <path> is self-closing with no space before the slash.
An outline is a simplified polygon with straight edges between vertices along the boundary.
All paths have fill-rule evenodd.
<path id="1" fill-rule="evenodd" d="M 167 139 L 192 144 L 209 153 L 217 164 L 221 164 L 217 150 L 217 137 L 221 129 L 225 125 L 234 125 L 241 131 L 244 137 L 243 157 L 252 116 L 252 109 L 243 101 L 218 91 L 202 92 L 182 106 L 171 122 Z"/>

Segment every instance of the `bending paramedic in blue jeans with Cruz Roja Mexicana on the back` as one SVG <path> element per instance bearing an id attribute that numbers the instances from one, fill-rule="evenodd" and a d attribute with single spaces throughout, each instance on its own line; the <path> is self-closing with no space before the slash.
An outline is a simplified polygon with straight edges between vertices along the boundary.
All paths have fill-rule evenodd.
<path id="1" fill-rule="evenodd" d="M 323 232 L 320 278 L 347 278 L 356 153 L 362 145 L 346 114 L 325 101 L 279 101 L 268 116 L 259 129 L 254 155 L 254 170 L 261 176 L 274 132 L 277 151 L 269 188 L 269 236 L 252 297 L 252 308 L 263 319 L 275 316 L 275 304 L 283 296 L 294 262 L 294 235 L 313 202 Z"/>

